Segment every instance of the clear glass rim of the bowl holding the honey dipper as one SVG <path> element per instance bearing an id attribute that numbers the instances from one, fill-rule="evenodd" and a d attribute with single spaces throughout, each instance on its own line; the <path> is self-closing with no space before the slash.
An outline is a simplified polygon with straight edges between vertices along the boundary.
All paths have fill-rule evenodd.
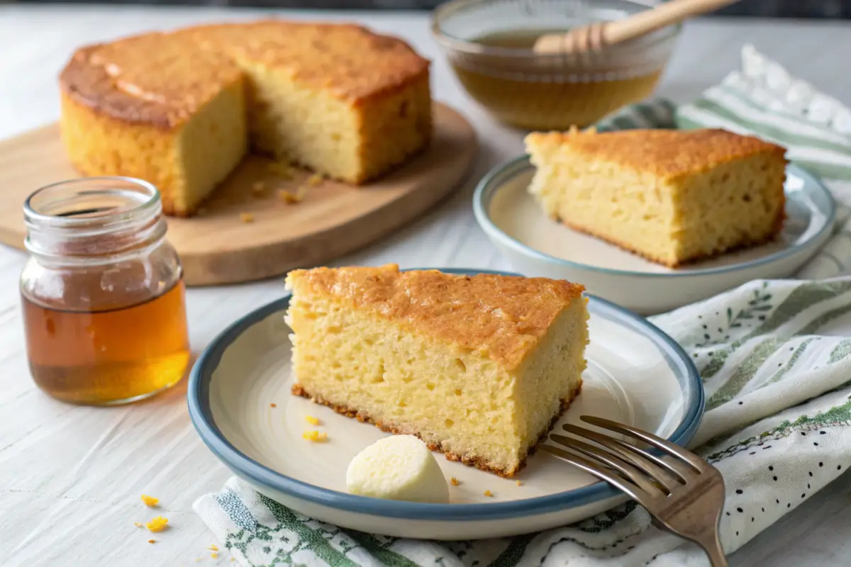
<path id="1" fill-rule="evenodd" d="M 473 54 L 473 55 L 498 55 L 500 57 L 509 57 L 509 58 L 517 58 L 517 59 L 535 59 L 535 60 L 564 60 L 568 61 L 568 58 L 565 57 L 564 54 L 535 54 L 532 49 L 521 49 L 521 48 L 496 48 L 493 46 L 486 46 L 481 43 L 467 41 L 460 37 L 455 37 L 452 34 L 443 31 L 441 26 L 442 20 L 447 16 L 451 15 L 455 11 L 463 9 L 468 6 L 473 6 L 475 4 L 489 4 L 494 3 L 497 0 L 450 0 L 449 2 L 441 3 L 431 12 L 431 22 L 430 22 L 430 30 L 431 37 L 437 41 L 437 43 L 441 44 L 444 48 L 449 48 L 454 51 L 464 53 L 464 54 Z M 609 0 L 610 2 L 616 2 L 623 4 L 625 6 L 631 6 L 632 8 L 637 8 L 636 13 L 645 12 L 648 9 L 653 9 L 653 6 L 649 6 L 648 4 L 637 3 L 633 0 Z M 622 52 L 632 52 L 636 48 L 652 48 L 660 43 L 670 42 L 677 38 L 680 32 L 683 30 L 683 24 L 677 23 L 671 26 L 667 26 L 662 28 L 660 32 L 656 35 L 650 35 L 648 37 L 639 37 L 636 40 L 631 42 L 627 42 L 624 44 L 609 46 L 608 49 L 611 50 L 612 53 Z M 665 33 L 662 33 L 665 32 Z M 650 38 L 650 39 L 648 39 Z M 665 65 L 665 63 L 661 63 L 661 65 Z M 580 65 L 582 67 L 583 65 Z"/>

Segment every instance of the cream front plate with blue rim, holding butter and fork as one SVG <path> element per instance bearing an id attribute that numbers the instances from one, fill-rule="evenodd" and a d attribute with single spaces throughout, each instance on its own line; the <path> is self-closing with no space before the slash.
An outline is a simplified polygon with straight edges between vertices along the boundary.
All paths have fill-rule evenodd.
<path id="1" fill-rule="evenodd" d="M 457 274 L 481 270 L 444 269 Z M 386 536 L 464 540 L 513 536 L 571 524 L 626 497 L 545 451 L 513 479 L 437 456 L 450 503 L 397 502 L 346 492 L 351 458 L 386 436 L 378 428 L 290 393 L 289 298 L 255 310 L 222 332 L 192 368 L 187 399 L 203 442 L 243 482 L 297 513 Z M 704 393 L 694 364 L 647 320 L 603 299 L 588 303 L 591 343 L 579 397 L 558 422 L 590 414 L 685 445 L 700 424 Z M 317 417 L 311 426 L 306 417 Z M 328 434 L 303 439 L 306 429 Z M 547 441 L 551 443 L 551 441 Z M 517 480 L 520 483 L 517 483 Z M 489 490 L 492 496 L 485 496 Z"/>

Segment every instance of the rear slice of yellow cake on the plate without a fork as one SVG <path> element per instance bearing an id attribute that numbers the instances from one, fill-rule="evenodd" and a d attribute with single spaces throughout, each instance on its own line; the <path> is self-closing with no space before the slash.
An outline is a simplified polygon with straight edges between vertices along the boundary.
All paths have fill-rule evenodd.
<path id="1" fill-rule="evenodd" d="M 551 218 L 671 268 L 780 233 L 785 149 L 718 129 L 530 133 Z"/>

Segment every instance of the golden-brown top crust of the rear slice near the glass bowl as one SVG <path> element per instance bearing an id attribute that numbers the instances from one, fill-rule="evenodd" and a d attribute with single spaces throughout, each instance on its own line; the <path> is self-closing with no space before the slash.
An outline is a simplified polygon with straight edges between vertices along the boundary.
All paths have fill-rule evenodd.
<path id="1" fill-rule="evenodd" d="M 721 129 L 620 130 L 616 132 L 534 132 L 530 151 L 568 148 L 591 159 L 671 179 L 700 173 L 746 156 L 770 152 L 785 159 L 785 148 Z"/>

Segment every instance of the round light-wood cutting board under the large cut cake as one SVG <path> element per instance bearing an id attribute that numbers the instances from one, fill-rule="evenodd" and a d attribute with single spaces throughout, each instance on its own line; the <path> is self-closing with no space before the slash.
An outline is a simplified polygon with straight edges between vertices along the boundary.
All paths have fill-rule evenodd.
<path id="1" fill-rule="evenodd" d="M 270 161 L 248 156 L 203 205 L 201 216 L 168 218 L 168 240 L 186 285 L 253 281 L 326 263 L 409 224 L 448 196 L 471 169 L 476 133 L 463 116 L 436 104 L 429 148 L 374 183 L 353 187 L 294 170 L 282 179 Z M 23 249 L 21 207 L 32 191 L 76 179 L 58 124 L 0 142 L 0 242 Z M 261 184 L 262 190 L 258 184 Z M 279 190 L 304 199 L 287 203 Z M 245 217 L 252 222 L 245 222 Z"/>

